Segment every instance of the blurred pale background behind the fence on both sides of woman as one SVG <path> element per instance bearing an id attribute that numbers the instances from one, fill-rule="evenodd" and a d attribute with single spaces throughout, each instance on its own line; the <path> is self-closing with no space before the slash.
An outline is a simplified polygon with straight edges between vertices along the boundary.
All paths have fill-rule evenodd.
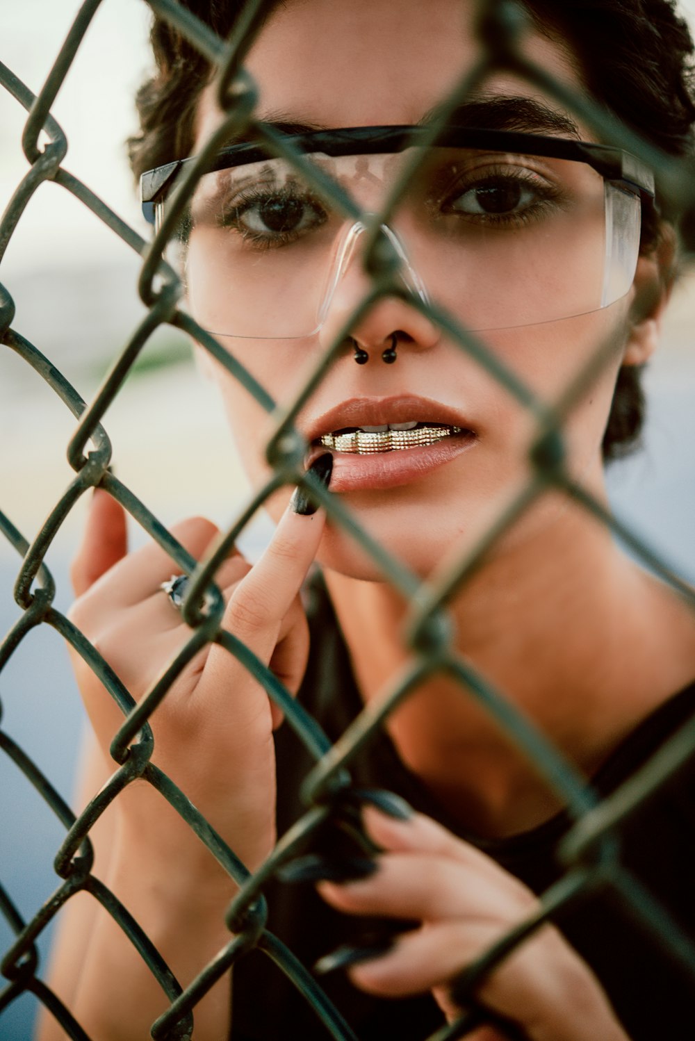
<path id="1" fill-rule="evenodd" d="M 76 0 L 5 4 L 0 60 L 34 93 L 43 84 Z M 695 0 L 681 5 L 691 17 Z M 104 0 L 56 99 L 67 133 L 63 166 L 144 236 L 145 225 L 124 142 L 135 128 L 132 98 L 149 67 L 149 9 L 141 0 Z M 25 113 L 0 92 L 0 208 L 28 164 L 21 149 Z M 85 400 L 99 385 L 145 308 L 135 290 L 138 258 L 62 188 L 41 185 L 22 217 L 0 270 L 17 314 L 14 328 L 48 355 Z M 695 286 L 686 278 L 669 311 L 663 349 L 647 378 L 645 449 L 611 469 L 616 511 L 690 580 L 695 580 Z M 247 485 L 211 386 L 189 349 L 160 329 L 108 412 L 119 477 L 161 520 L 191 508 L 229 523 Z M 0 510 L 32 541 L 65 491 L 72 469 L 65 446 L 74 424 L 53 391 L 6 348 L 0 349 Z M 47 557 L 58 593 L 70 603 L 68 564 L 84 518 L 80 504 Z M 249 535 L 254 555 L 267 528 Z M 132 532 L 133 542 L 141 540 Z M 20 558 L 0 537 L 0 638 L 20 615 L 12 587 Z M 2 729 L 70 801 L 82 712 L 67 653 L 47 627 L 33 630 L 0 672 Z M 56 885 L 52 859 L 65 832 L 20 770 L 0 755 L 0 882 L 24 917 Z M 49 937 L 40 949 L 45 957 Z M 10 932 L 0 920 L 0 951 Z M 1 990 L 1 987 L 0 987 Z M 28 1041 L 35 1002 L 25 996 L 0 1013 L 0 1039 Z"/>

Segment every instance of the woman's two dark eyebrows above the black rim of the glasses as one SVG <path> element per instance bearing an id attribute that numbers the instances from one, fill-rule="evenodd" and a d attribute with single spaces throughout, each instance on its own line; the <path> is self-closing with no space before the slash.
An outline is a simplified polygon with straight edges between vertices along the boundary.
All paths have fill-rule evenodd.
<path id="1" fill-rule="evenodd" d="M 441 105 L 431 108 L 415 126 L 430 126 L 442 115 Z M 259 123 L 279 133 L 305 134 L 338 129 L 323 123 L 307 122 L 291 112 L 269 110 L 261 113 Z M 567 113 L 550 108 L 537 98 L 518 95 L 480 94 L 466 100 L 448 116 L 447 126 L 475 127 L 487 130 L 516 130 L 521 133 L 562 134 L 581 141 L 580 128 Z M 247 144 L 251 139 L 235 137 L 230 144 Z"/>

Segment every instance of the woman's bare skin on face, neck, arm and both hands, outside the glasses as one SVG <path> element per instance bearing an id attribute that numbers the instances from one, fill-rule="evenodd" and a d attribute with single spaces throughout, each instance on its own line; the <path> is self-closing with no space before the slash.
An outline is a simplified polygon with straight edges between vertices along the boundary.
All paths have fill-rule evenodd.
<path id="1" fill-rule="evenodd" d="M 469 5 L 464 6 L 468 15 Z M 454 0 L 400 0 L 397 17 L 392 0 L 289 0 L 249 56 L 261 108 L 336 127 L 416 122 L 474 57 L 467 27 L 460 34 L 452 31 L 457 24 L 461 5 Z M 580 72 L 561 44 L 532 35 L 527 50 L 543 68 L 581 87 Z M 486 91 L 533 93 L 499 76 L 486 83 Z M 210 88 L 200 106 L 199 141 L 217 120 Z M 642 256 L 629 294 L 604 311 L 487 337 L 517 376 L 550 400 L 597 345 L 606 346 L 608 363 L 567 426 L 570 468 L 599 499 L 604 494 L 600 441 L 616 373 L 621 363 L 645 361 L 655 347 L 668 296 L 664 266 L 661 254 Z M 363 289 L 364 277 L 354 266 L 317 345 L 226 346 L 239 353 L 274 397 L 289 400 Z M 397 364 L 383 365 L 379 354 L 396 330 L 407 336 Z M 405 304 L 380 302 L 353 335 L 376 357 L 356 365 L 346 349 L 300 416 L 302 431 L 351 398 L 417 392 L 462 410 L 478 434 L 470 451 L 418 480 L 387 492 L 342 494 L 370 534 L 427 577 L 469 548 L 519 488 L 527 476 L 533 427 L 527 412 Z M 220 384 L 250 481 L 259 484 L 268 473 L 265 418 L 225 373 L 206 357 L 202 364 Z M 298 594 L 316 558 L 327 568 L 362 696 L 378 699 L 409 657 L 401 638 L 406 605 L 349 536 L 325 527 L 321 512 L 311 517 L 284 513 L 286 499 L 278 496 L 271 504 L 280 526 L 263 561 L 251 569 L 235 555 L 217 577 L 228 602 L 225 626 L 297 689 L 307 655 Z M 175 534 L 200 558 L 215 531 L 209 522 L 194 518 Z M 157 591 L 171 576 L 172 562 L 151 547 L 132 557 L 126 552 L 122 512 L 98 493 L 75 565 L 73 617 L 137 697 L 188 631 Z M 524 515 L 451 608 L 458 649 L 587 773 L 640 718 L 695 675 L 690 615 L 626 561 L 600 526 L 557 496 L 545 496 Z M 94 677 L 79 661 L 75 665 L 99 743 L 84 782 L 86 799 L 112 769 L 107 750 L 119 719 Z M 155 761 L 251 867 L 262 861 L 275 838 L 272 730 L 277 721 L 263 691 L 218 648 L 191 662 L 153 719 Z M 511 834 L 558 807 L 475 703 L 442 678 L 419 689 L 388 728 L 406 764 L 469 830 Z M 527 914 L 535 898 L 488 858 L 426 818 L 396 823 L 371 813 L 365 823 L 385 849 L 380 870 L 359 884 L 324 885 L 321 894 L 346 913 L 415 918 L 422 929 L 390 955 L 352 969 L 351 976 L 376 993 L 432 989 L 451 1015 L 447 981 Z M 229 940 L 222 920 L 233 887 L 162 801 L 143 786 L 117 801 L 112 819 L 100 822 L 96 841 L 101 877 L 187 983 Z M 440 883 L 436 891 L 430 885 L 433 872 Z M 466 893 L 475 900 L 468 903 Z M 479 905 L 487 916 L 481 918 Z M 165 1007 L 115 926 L 86 905 L 68 908 L 54 985 L 99 1041 L 145 1036 L 147 1024 Z M 599 984 L 551 928 L 486 984 L 484 997 L 533 1041 L 625 1038 Z M 224 1037 L 228 1009 L 223 982 L 197 1011 L 196 1038 Z M 47 1020 L 42 1041 L 59 1036 Z M 481 1031 L 475 1041 L 496 1037 Z"/>

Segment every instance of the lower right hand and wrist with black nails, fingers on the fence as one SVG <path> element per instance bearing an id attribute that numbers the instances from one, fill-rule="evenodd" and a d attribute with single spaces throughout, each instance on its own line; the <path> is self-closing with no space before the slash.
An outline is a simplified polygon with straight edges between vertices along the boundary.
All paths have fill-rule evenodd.
<path id="1" fill-rule="evenodd" d="M 348 914 L 421 921 L 380 957 L 349 968 L 356 986 L 401 997 L 432 991 L 447 1019 L 458 1012 L 454 977 L 537 908 L 537 899 L 489 857 L 421 814 L 407 820 L 363 810 L 370 837 L 385 853 L 368 878 L 318 891 Z M 324 967 L 331 967 L 331 956 Z M 343 953 L 334 960 L 350 964 Z M 320 967 L 320 966 L 319 966 Z M 627 1041 L 586 963 L 551 925 L 542 926 L 507 958 L 477 995 L 520 1027 L 530 1041 Z M 469 1037 L 501 1041 L 494 1029 Z"/>

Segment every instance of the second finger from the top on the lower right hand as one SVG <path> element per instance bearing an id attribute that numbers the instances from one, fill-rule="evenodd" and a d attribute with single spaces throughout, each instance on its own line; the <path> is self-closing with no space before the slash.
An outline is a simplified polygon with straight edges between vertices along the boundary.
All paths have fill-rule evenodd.
<path id="1" fill-rule="evenodd" d="M 349 914 L 386 915 L 438 921 L 455 917 L 518 920 L 536 906 L 529 890 L 500 885 L 503 872 L 472 869 L 459 861 L 427 854 L 386 854 L 366 879 L 337 885 L 319 883 L 320 895 Z"/>

